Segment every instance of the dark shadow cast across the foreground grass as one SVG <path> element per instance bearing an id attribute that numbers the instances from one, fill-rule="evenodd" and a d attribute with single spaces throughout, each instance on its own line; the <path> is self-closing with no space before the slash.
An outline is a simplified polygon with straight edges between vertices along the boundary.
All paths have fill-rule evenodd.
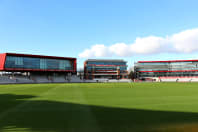
<path id="1" fill-rule="evenodd" d="M 198 113 L 28 101 L 33 97 L 0 94 L 1 132 L 198 131 Z"/>

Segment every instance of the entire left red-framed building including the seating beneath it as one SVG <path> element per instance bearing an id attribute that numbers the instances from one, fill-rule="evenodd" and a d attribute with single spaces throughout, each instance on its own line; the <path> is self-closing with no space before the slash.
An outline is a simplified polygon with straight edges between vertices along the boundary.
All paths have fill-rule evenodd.
<path id="1" fill-rule="evenodd" d="M 76 58 L 71 57 L 0 54 L 0 79 L 7 82 L 17 82 L 21 79 L 26 80 L 25 82 L 56 82 L 57 78 L 64 82 L 69 76 L 76 74 L 76 69 Z"/>

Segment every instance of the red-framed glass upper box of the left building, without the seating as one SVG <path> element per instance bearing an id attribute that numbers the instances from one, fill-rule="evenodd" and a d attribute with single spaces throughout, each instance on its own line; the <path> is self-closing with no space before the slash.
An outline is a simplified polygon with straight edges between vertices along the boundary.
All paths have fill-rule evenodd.
<path id="1" fill-rule="evenodd" d="M 0 70 L 9 72 L 75 73 L 76 58 L 3 53 L 0 54 Z"/>

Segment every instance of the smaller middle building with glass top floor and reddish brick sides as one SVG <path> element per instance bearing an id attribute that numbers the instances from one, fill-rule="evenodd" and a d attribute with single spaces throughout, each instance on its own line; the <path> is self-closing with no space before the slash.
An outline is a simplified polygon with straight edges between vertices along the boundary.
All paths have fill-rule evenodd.
<path id="1" fill-rule="evenodd" d="M 127 62 L 124 60 L 88 59 L 84 62 L 85 79 L 127 79 Z"/>

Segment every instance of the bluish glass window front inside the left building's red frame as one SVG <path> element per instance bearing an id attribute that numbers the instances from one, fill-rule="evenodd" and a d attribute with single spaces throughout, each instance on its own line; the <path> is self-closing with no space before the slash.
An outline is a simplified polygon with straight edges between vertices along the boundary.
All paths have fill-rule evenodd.
<path id="1" fill-rule="evenodd" d="M 5 68 L 38 70 L 73 70 L 73 61 L 34 57 L 7 56 Z"/>

